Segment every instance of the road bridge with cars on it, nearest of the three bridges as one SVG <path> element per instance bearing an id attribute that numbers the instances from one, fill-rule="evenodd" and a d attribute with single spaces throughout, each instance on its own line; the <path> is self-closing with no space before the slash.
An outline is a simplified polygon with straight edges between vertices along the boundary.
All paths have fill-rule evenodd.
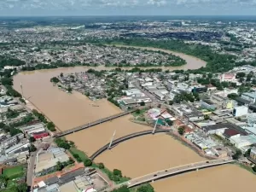
<path id="1" fill-rule="evenodd" d="M 177 174 L 182 174 L 183 172 L 191 172 L 191 171 L 195 171 L 195 170 L 199 170 L 199 169 L 203 169 L 211 166 L 220 166 L 220 165 L 224 165 L 234 161 L 235 160 L 232 160 L 231 158 L 226 158 L 226 159 L 219 159 L 219 160 L 205 160 L 205 161 L 191 163 L 183 166 L 176 166 L 176 167 L 172 167 L 159 172 L 152 172 L 142 177 L 133 178 L 126 183 L 122 183 L 122 185 L 127 185 L 129 188 L 131 188 L 142 183 L 154 182 L 155 180 L 159 180 L 164 177 L 171 177 Z"/>

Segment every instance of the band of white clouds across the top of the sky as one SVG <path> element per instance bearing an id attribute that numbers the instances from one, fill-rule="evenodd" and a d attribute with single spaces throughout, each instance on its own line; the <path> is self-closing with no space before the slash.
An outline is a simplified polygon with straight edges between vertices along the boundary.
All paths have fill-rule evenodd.
<path id="1" fill-rule="evenodd" d="M 252 8 L 256 0 L 0 0 L 0 9 L 50 9 L 50 10 L 82 10 L 124 7 L 165 7 L 173 6 L 218 9 L 236 6 Z M 240 7 L 241 6 L 241 7 Z"/>

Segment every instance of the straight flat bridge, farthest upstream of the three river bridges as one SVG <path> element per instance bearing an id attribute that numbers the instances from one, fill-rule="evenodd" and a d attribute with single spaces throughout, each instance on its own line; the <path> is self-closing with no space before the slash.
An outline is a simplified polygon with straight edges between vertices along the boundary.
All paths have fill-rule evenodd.
<path id="1" fill-rule="evenodd" d="M 114 114 L 114 115 L 109 116 L 109 117 L 107 117 L 107 118 L 98 119 L 98 120 L 96 120 L 96 121 L 94 121 L 94 122 L 91 122 L 91 123 L 88 123 L 88 124 L 85 124 L 85 125 L 80 125 L 80 126 L 75 127 L 75 128 L 73 128 L 73 129 L 71 129 L 71 130 L 62 131 L 62 132 L 58 133 L 57 135 L 55 135 L 55 137 L 63 137 L 63 136 L 67 136 L 67 135 L 72 134 L 72 133 L 77 132 L 77 131 L 81 131 L 81 130 L 84 130 L 84 129 L 88 129 L 88 128 L 90 128 L 91 126 L 99 125 L 99 124 L 105 123 L 105 122 L 107 122 L 107 121 L 109 121 L 109 120 L 112 120 L 112 119 L 117 119 L 117 118 L 122 117 L 122 116 L 125 116 L 125 115 L 127 115 L 127 114 L 129 114 L 129 113 L 133 113 L 133 112 L 135 112 L 136 110 L 137 110 L 137 108 L 132 109 L 132 110 L 130 110 L 130 111 L 126 111 L 126 112 Z"/>

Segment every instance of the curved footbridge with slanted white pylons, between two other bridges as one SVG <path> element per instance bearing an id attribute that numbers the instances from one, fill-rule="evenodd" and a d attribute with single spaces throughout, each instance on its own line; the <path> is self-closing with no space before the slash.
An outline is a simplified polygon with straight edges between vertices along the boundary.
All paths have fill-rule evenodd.
<path id="1" fill-rule="evenodd" d="M 144 135 L 149 135 L 149 134 L 153 134 L 153 133 L 160 133 L 160 132 L 169 132 L 170 130 L 162 130 L 162 129 L 156 129 L 154 130 L 148 130 L 148 131 L 140 131 L 140 132 L 136 132 L 136 133 L 132 133 L 130 135 L 127 135 L 125 137 L 120 137 L 116 140 L 113 140 L 112 143 L 108 143 L 106 145 L 104 145 L 102 148 L 99 148 L 94 154 L 92 154 L 90 156 L 90 160 L 94 160 L 98 155 L 102 154 L 104 151 L 106 151 L 109 147 L 113 148 L 116 144 L 118 143 L 122 143 L 125 142 L 131 138 L 134 137 L 141 137 Z"/>

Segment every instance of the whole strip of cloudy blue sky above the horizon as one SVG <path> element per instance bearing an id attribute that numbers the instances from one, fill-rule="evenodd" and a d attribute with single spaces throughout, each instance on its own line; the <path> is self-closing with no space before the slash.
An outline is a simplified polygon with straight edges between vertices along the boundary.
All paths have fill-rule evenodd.
<path id="1" fill-rule="evenodd" d="M 256 15 L 256 0 L 0 0 L 0 15 Z"/>

